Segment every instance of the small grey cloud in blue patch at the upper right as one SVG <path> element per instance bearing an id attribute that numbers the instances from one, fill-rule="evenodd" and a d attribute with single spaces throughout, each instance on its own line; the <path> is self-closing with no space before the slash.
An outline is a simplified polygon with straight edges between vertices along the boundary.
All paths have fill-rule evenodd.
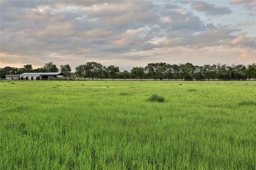
<path id="1" fill-rule="evenodd" d="M 230 14 L 231 10 L 226 6 L 216 6 L 204 1 L 197 1 L 191 4 L 191 7 L 199 12 L 205 12 L 210 15 Z"/>

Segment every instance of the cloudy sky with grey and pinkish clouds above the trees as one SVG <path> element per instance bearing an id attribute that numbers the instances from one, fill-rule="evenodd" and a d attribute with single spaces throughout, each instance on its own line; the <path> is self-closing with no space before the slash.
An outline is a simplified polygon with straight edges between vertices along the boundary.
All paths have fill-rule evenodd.
<path id="1" fill-rule="evenodd" d="M 256 1 L 0 1 L 0 67 L 256 62 Z"/>

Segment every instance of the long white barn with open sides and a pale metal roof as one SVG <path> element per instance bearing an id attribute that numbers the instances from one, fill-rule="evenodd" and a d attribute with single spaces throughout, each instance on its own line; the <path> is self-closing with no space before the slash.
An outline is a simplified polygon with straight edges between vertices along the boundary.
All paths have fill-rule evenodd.
<path id="1" fill-rule="evenodd" d="M 61 72 L 51 72 L 51 73 L 22 73 L 20 74 L 20 80 L 50 80 L 57 77 L 62 77 L 66 75 Z"/>

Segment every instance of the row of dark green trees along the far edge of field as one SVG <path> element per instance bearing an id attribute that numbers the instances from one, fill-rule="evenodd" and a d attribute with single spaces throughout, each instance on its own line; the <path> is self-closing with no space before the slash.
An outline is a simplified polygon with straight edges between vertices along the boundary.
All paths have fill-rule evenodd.
<path id="1" fill-rule="evenodd" d="M 87 62 L 79 65 L 72 72 L 69 64 L 60 65 L 58 68 L 53 62 L 45 63 L 38 69 L 33 69 L 31 64 L 24 65 L 23 68 L 6 66 L 0 68 L 1 78 L 6 74 L 21 74 L 26 72 L 63 72 L 69 79 L 79 77 L 82 79 L 256 79 L 256 64 L 234 65 L 226 64 L 205 64 L 203 66 L 168 63 L 149 63 L 145 67 L 133 67 L 130 71 L 119 71 L 118 66 L 104 66 L 97 62 Z"/>

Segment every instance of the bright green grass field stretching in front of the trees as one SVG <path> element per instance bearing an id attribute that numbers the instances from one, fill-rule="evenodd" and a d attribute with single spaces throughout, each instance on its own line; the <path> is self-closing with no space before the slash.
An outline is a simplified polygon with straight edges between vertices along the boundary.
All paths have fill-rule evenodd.
<path id="1" fill-rule="evenodd" d="M 256 81 L 0 88 L 0 169 L 256 169 Z"/>

